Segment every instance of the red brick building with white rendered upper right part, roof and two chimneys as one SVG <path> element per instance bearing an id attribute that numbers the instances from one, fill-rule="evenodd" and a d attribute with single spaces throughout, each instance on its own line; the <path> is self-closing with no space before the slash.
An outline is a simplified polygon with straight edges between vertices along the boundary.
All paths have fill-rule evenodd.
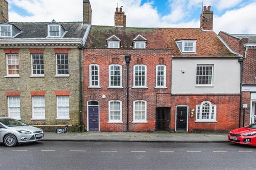
<path id="1" fill-rule="evenodd" d="M 87 131 L 236 128 L 238 56 L 212 21 L 209 6 L 201 28 L 129 28 L 116 8 L 115 27 L 91 25 L 83 61 Z"/>

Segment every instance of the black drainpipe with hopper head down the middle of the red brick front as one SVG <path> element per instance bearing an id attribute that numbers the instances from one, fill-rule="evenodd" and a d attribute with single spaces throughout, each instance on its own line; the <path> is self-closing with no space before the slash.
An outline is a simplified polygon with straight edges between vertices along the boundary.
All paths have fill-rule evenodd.
<path id="1" fill-rule="evenodd" d="M 131 56 L 126 55 L 126 132 L 129 132 L 129 64 L 131 61 Z"/>

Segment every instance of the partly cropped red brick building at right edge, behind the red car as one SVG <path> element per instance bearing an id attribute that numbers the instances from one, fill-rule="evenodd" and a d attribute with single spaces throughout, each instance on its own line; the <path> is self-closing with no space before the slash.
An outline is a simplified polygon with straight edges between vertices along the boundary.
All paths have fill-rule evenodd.
<path id="1" fill-rule="evenodd" d="M 240 126 L 256 122 L 256 35 L 237 35 L 221 31 L 219 37 L 228 48 L 241 56 L 242 100 Z"/>

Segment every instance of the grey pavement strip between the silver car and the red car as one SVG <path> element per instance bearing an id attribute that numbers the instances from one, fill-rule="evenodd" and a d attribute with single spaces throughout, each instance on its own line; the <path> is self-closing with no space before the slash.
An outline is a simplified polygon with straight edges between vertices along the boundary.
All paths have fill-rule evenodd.
<path id="1" fill-rule="evenodd" d="M 131 141 L 131 142 L 227 142 L 227 134 L 216 133 L 45 133 L 45 141 Z"/>

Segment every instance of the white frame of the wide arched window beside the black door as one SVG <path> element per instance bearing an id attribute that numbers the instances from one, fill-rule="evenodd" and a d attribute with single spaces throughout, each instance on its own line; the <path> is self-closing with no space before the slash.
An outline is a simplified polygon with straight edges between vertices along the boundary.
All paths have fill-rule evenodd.
<path id="1" fill-rule="evenodd" d="M 202 118 L 202 108 L 203 108 L 203 104 L 209 104 L 209 119 L 205 119 L 205 118 Z M 212 107 L 214 107 L 214 112 L 212 112 Z M 199 109 L 199 110 L 198 110 Z M 198 116 L 198 112 L 199 112 L 199 118 L 197 117 Z M 212 113 L 214 114 L 213 115 L 213 118 L 212 118 Z M 217 114 L 217 105 L 213 105 L 211 103 L 211 101 L 203 101 L 200 105 L 196 105 L 196 122 L 217 122 L 216 121 L 216 114 Z"/>

